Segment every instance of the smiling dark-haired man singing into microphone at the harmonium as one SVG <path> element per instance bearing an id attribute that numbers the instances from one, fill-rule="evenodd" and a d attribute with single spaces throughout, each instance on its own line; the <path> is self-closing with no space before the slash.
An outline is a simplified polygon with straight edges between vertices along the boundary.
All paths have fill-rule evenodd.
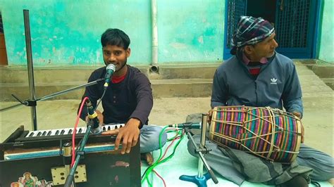
<path id="1" fill-rule="evenodd" d="M 104 64 L 113 64 L 116 67 L 111 75 L 111 82 L 104 93 L 104 82 L 87 86 L 82 98 L 88 97 L 96 108 L 101 99 L 103 112 L 97 110 L 101 124 L 125 124 L 125 127 L 105 131 L 102 134 L 117 135 L 115 148 L 122 143 L 120 153 L 130 153 L 132 146 L 137 144 L 140 136 L 140 153 L 151 165 L 153 157 L 151 151 L 159 149 L 159 134 L 161 127 L 147 125 L 149 113 L 153 106 L 153 96 L 149 79 L 135 67 L 127 65 L 130 56 L 130 39 L 125 32 L 118 29 L 108 29 L 101 35 Z M 92 72 L 88 82 L 104 78 L 106 67 Z M 87 119 L 87 111 L 82 110 L 82 120 Z M 166 143 L 166 132 L 161 134 L 161 146 Z"/>

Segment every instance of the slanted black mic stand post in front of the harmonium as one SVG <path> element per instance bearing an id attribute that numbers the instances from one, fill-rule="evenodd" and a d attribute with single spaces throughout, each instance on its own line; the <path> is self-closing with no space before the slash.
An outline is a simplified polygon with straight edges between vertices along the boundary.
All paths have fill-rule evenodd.
<path id="1" fill-rule="evenodd" d="M 87 123 L 87 130 L 85 132 L 85 136 L 82 138 L 82 142 L 80 144 L 80 148 L 75 155 L 72 155 L 72 156 L 75 156 L 75 162 L 74 162 L 73 167 L 70 169 L 70 174 L 68 174 L 66 178 L 65 185 L 64 185 L 65 187 L 70 187 L 73 183 L 75 183 L 75 181 L 73 181 L 75 170 L 77 170 L 80 157 L 85 154 L 83 150 L 85 148 L 85 145 L 88 140 L 88 136 L 90 134 L 91 129 L 92 129 L 92 120 L 89 120 Z"/>

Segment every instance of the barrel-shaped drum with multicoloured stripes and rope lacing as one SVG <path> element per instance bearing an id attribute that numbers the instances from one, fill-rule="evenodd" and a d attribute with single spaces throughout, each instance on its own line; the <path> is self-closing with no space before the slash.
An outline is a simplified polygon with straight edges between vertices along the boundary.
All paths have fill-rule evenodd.
<path id="1" fill-rule="evenodd" d="M 302 123 L 289 112 L 269 107 L 216 107 L 209 138 L 266 160 L 293 162 L 299 153 Z"/>

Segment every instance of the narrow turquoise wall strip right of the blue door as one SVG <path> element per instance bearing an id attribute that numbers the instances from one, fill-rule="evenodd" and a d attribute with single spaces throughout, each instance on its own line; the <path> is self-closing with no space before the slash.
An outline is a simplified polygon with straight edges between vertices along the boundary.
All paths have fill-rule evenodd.
<path id="1" fill-rule="evenodd" d="M 321 19 L 319 59 L 334 63 L 334 13 L 333 0 L 323 0 L 323 15 Z"/>

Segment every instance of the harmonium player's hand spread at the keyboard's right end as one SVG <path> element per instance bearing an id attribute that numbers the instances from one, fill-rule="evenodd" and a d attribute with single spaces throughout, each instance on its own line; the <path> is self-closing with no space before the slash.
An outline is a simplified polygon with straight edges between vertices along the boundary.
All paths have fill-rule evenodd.
<path id="1" fill-rule="evenodd" d="M 131 118 L 126 124 L 125 127 L 120 129 L 114 129 L 111 131 L 102 132 L 103 135 L 116 135 L 115 141 L 115 150 L 118 150 L 120 146 L 120 141 L 122 141 L 122 150 L 120 154 L 130 153 L 131 147 L 135 146 L 140 135 L 140 120 Z"/>

